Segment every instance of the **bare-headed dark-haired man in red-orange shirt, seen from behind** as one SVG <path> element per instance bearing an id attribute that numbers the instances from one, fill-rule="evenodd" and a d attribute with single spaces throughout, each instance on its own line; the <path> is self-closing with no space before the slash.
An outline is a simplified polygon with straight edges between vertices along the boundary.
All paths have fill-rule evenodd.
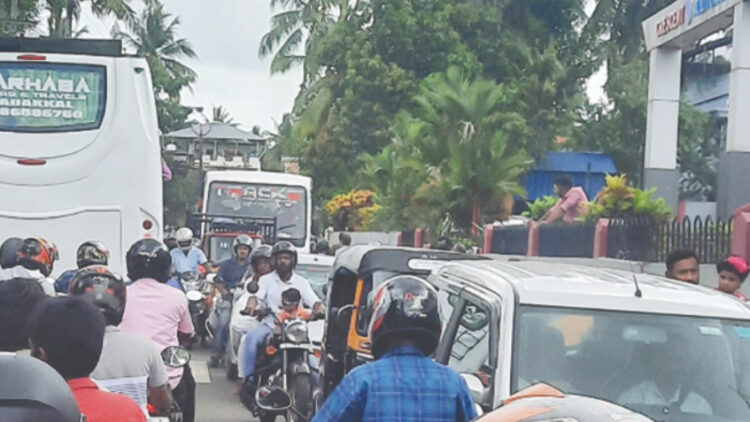
<path id="1" fill-rule="evenodd" d="M 100 391 L 89 378 L 99 362 L 104 329 L 104 316 L 89 303 L 76 298 L 47 301 L 31 322 L 31 354 L 65 378 L 87 422 L 145 422 L 133 400 Z"/>

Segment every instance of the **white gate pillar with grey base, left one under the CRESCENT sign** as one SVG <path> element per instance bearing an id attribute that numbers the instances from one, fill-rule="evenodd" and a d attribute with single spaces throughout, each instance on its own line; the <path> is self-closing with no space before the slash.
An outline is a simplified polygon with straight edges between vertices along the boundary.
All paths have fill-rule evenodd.
<path id="1" fill-rule="evenodd" d="M 643 185 L 645 188 L 656 187 L 657 196 L 664 197 L 676 211 L 680 177 L 677 170 L 677 126 L 682 50 L 655 48 L 651 50 L 649 63 Z"/>

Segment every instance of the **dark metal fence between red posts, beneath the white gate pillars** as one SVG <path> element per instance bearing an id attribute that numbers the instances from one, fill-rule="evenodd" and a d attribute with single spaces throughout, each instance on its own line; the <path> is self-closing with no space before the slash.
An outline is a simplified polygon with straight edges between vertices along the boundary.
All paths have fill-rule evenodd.
<path id="1" fill-rule="evenodd" d="M 711 217 L 655 222 L 648 217 L 611 219 L 607 256 L 635 261 L 664 262 L 675 249 L 691 249 L 701 263 L 715 263 L 728 255 L 732 220 Z"/>

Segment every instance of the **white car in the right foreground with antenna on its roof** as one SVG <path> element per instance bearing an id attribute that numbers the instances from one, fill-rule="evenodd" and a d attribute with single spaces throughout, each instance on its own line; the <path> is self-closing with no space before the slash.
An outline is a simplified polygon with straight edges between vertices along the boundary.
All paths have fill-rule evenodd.
<path id="1" fill-rule="evenodd" d="M 645 274 L 539 261 L 448 263 L 429 277 L 435 354 L 489 411 L 545 382 L 658 421 L 750 420 L 750 308 Z"/>

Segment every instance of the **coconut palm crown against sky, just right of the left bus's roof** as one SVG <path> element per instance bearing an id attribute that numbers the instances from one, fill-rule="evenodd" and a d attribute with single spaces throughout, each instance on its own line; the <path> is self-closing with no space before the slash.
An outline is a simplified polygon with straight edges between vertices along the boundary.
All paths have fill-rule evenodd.
<path id="1" fill-rule="evenodd" d="M 115 27 L 112 36 L 122 39 L 126 47 L 144 57 L 152 73 L 163 69 L 172 78 L 185 80 L 187 84 L 195 81 L 195 71 L 181 61 L 196 57 L 195 51 L 187 39 L 177 35 L 180 18 L 167 13 L 161 2 L 146 0 L 140 15 L 125 23 L 127 31 Z"/>

